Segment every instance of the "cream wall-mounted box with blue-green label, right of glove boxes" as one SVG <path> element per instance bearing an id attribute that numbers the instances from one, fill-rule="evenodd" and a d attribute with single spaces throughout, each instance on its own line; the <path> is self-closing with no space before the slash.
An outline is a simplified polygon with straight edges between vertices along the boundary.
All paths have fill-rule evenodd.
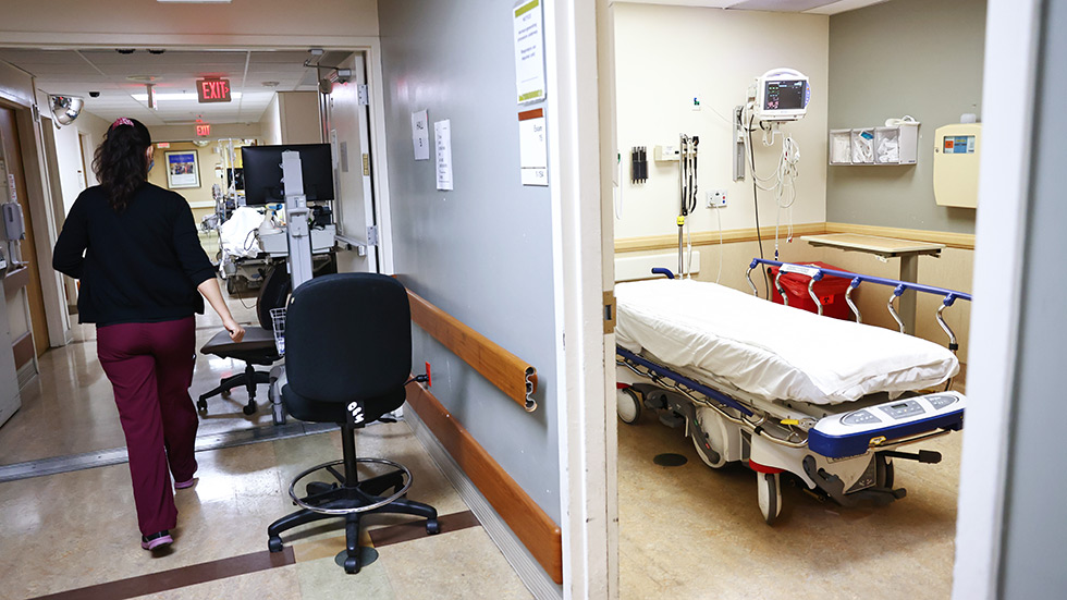
<path id="1" fill-rule="evenodd" d="M 978 164 L 982 124 L 957 123 L 934 132 L 934 201 L 939 206 L 978 208 Z"/>

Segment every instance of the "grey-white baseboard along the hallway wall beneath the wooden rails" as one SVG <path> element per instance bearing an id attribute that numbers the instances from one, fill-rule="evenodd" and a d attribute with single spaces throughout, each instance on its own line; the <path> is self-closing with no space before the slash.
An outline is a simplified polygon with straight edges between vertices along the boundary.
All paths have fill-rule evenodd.
<path id="1" fill-rule="evenodd" d="M 406 406 L 405 406 L 406 408 Z M 530 554 L 526 546 L 512 532 L 504 519 L 496 514 L 486 497 L 481 495 L 474 482 L 463 473 L 459 465 L 452 458 L 449 451 L 441 445 L 441 442 L 433 436 L 433 432 L 424 424 L 415 411 L 404 411 L 404 420 L 410 425 L 430 457 L 437 463 L 438 467 L 452 483 L 452 487 L 459 493 L 459 498 L 467 503 L 470 512 L 478 517 L 489 534 L 490 539 L 496 548 L 504 554 L 507 562 L 518 574 L 519 579 L 530 590 L 535 598 L 539 600 L 555 600 L 563 598 L 563 588 L 549 577 L 549 574 L 541 568 L 537 559 Z"/>

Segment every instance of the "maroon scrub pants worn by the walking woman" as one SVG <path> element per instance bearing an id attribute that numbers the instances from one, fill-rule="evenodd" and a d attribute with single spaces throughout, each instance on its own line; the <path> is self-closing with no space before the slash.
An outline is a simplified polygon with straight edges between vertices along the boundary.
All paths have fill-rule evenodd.
<path id="1" fill-rule="evenodd" d="M 177 524 L 171 475 L 186 481 L 196 472 L 195 346 L 193 317 L 97 328 L 97 355 L 114 388 L 137 524 L 146 536 Z"/>

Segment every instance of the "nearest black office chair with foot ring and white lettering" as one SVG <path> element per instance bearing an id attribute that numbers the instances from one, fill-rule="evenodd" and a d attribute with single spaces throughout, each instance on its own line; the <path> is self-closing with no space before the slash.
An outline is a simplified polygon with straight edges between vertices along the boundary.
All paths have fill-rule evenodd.
<path id="1" fill-rule="evenodd" d="M 271 552 L 281 552 L 282 531 L 324 518 L 344 518 L 344 570 L 358 573 L 363 515 L 422 516 L 427 534 L 440 531 L 436 509 L 406 499 L 410 470 L 383 458 L 356 457 L 355 430 L 395 411 L 406 396 L 412 374 L 407 292 L 395 279 L 377 273 L 323 275 L 296 289 L 285 320 L 287 381 L 282 401 L 294 418 L 340 425 L 344 460 L 312 467 L 293 480 L 289 493 L 301 510 L 267 528 L 267 546 Z M 367 463 L 396 470 L 360 481 L 357 466 Z M 344 474 L 335 465 L 344 465 Z M 309 482 L 306 495 L 298 497 L 301 480 L 323 469 L 336 482 Z"/>

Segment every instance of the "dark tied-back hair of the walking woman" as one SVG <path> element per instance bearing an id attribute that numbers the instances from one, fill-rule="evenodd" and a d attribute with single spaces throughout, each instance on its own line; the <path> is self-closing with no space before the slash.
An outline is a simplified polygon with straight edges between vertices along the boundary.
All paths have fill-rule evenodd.
<path id="1" fill-rule="evenodd" d="M 115 212 L 125 210 L 134 192 L 148 179 L 145 150 L 151 144 L 148 127 L 136 119 L 122 118 L 108 127 L 103 143 L 97 147 L 93 172 Z"/>

